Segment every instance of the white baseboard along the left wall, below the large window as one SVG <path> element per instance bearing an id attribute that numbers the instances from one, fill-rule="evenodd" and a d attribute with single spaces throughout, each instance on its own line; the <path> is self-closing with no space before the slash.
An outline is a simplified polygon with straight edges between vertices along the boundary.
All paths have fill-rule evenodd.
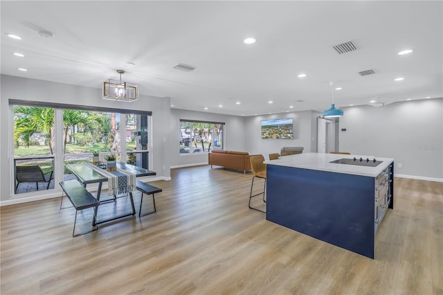
<path id="1" fill-rule="evenodd" d="M 143 182 L 150 182 L 150 181 L 157 181 L 157 180 L 165 180 L 170 181 L 171 177 L 137 177 L 138 180 L 141 180 Z M 90 192 L 96 192 L 98 188 L 98 184 L 89 184 L 88 190 Z M 108 186 L 105 182 L 102 186 L 102 190 L 107 190 Z M 15 204 L 22 204 L 22 203 L 28 203 L 28 202 L 34 202 L 34 201 L 41 201 L 42 199 L 52 199 L 55 197 L 61 197 L 62 196 L 62 189 L 59 188 L 57 190 L 51 190 L 50 193 L 48 191 L 40 191 L 38 192 L 39 195 L 30 195 L 30 193 L 27 193 L 24 197 L 17 197 L 16 195 L 11 197 L 11 199 L 7 199 L 5 201 L 0 201 L 0 207 L 1 206 L 8 206 L 8 205 L 15 205 Z"/>

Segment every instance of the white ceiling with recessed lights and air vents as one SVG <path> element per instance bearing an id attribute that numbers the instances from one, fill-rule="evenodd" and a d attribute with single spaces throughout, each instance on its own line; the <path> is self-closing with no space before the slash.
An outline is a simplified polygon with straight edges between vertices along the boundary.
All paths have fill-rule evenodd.
<path id="1" fill-rule="evenodd" d="M 6 75 L 101 88 L 123 69 L 122 80 L 140 84 L 142 95 L 170 97 L 172 108 L 237 116 L 323 111 L 333 99 L 347 107 L 443 97 L 442 1 L 0 5 Z M 344 42 L 357 50 L 338 54 L 333 46 Z M 178 63 L 197 69 L 173 69 Z"/>

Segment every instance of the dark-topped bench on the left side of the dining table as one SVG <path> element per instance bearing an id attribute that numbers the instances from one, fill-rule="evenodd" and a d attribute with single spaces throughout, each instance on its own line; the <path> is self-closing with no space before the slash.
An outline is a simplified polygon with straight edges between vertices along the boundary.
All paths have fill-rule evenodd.
<path id="1" fill-rule="evenodd" d="M 96 231 L 98 229 L 98 225 L 96 224 L 97 207 L 100 205 L 100 202 L 98 202 L 98 200 L 93 195 L 91 195 L 91 193 L 89 193 L 87 189 L 84 188 L 84 186 L 82 186 L 80 182 L 78 182 L 77 179 L 62 181 L 60 182 L 60 186 L 62 187 L 64 193 L 66 194 L 66 197 L 68 197 L 69 201 L 71 201 L 72 206 L 75 208 L 75 220 L 74 220 L 74 229 L 72 231 L 72 236 L 76 237 L 78 235 L 84 235 L 85 233 L 91 233 L 91 231 Z M 65 209 L 62 208 L 62 203 L 63 203 L 63 193 L 62 193 L 62 200 L 60 202 L 60 209 Z M 93 226 L 96 226 L 96 228 L 91 229 L 91 231 L 84 231 L 82 233 L 74 234 L 75 222 L 77 222 L 77 212 L 79 210 L 91 207 L 94 207 L 92 224 Z"/>

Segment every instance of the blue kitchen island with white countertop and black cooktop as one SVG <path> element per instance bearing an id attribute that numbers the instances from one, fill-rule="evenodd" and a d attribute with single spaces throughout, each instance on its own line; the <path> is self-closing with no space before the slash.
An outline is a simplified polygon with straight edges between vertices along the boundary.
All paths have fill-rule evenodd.
<path id="1" fill-rule="evenodd" d="M 394 159 L 305 153 L 265 163 L 266 220 L 374 258 L 394 208 Z"/>

